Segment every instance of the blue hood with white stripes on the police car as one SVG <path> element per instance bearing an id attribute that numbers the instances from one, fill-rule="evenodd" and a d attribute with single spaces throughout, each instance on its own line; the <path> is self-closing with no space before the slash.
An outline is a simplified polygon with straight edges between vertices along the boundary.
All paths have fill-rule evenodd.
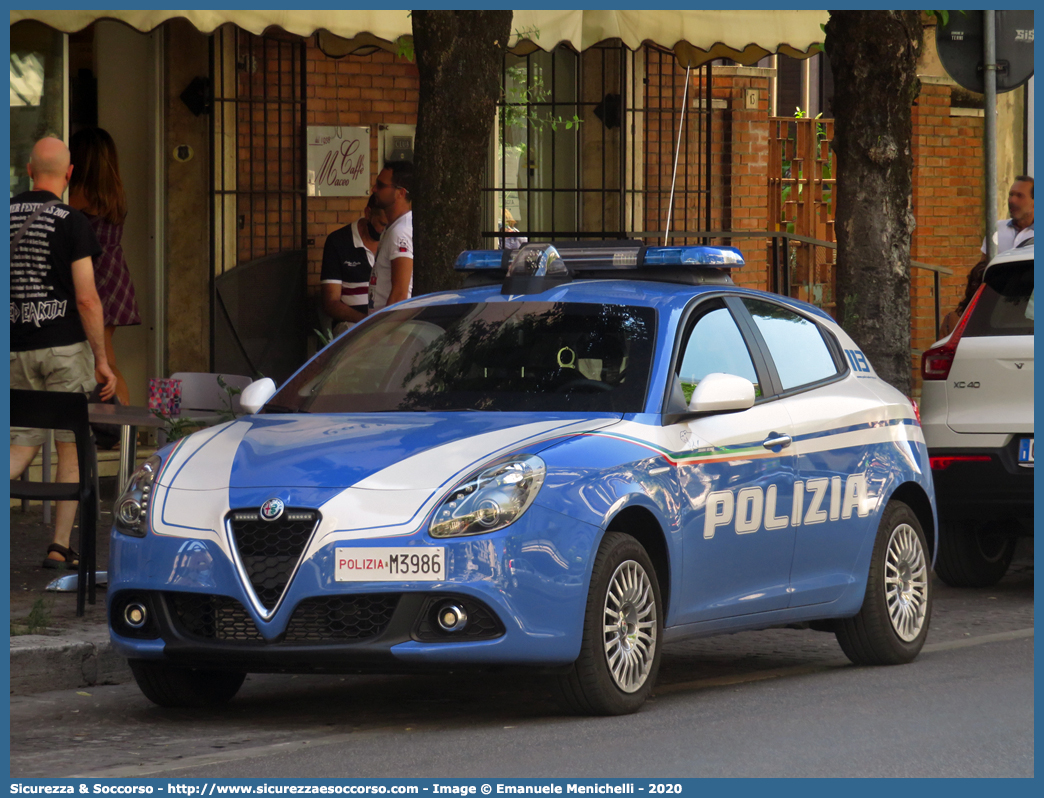
<path id="1" fill-rule="evenodd" d="M 200 491 L 435 489 L 493 457 L 535 453 L 619 419 L 478 412 L 251 416 L 185 439 L 159 483 Z"/>

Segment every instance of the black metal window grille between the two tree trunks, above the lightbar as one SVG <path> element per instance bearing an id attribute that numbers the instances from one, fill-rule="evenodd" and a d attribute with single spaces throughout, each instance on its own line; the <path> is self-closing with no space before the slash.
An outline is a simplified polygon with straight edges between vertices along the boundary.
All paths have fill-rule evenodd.
<path id="1" fill-rule="evenodd" d="M 670 229 L 710 229 L 710 79 L 709 65 L 693 69 L 686 93 L 673 52 L 654 46 L 506 55 L 483 188 L 490 245 L 662 231 L 675 148 Z"/>

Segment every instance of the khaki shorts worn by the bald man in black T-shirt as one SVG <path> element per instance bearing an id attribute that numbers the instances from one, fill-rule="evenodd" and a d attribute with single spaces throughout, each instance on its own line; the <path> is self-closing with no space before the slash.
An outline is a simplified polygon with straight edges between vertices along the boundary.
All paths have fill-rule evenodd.
<path id="1" fill-rule="evenodd" d="M 89 394 L 95 384 L 94 352 L 86 341 L 68 347 L 10 353 L 13 389 Z M 10 428 L 11 446 L 42 446 L 44 438 L 43 429 Z M 76 438 L 69 429 L 55 429 L 54 440 L 73 443 Z"/>

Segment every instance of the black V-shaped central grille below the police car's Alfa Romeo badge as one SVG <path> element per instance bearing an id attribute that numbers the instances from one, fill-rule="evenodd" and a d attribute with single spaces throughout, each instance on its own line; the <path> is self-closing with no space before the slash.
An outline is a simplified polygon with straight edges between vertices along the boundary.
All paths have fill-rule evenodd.
<path id="1" fill-rule="evenodd" d="M 314 510 L 287 508 L 265 521 L 257 510 L 234 510 L 229 526 L 254 594 L 266 610 L 279 604 L 318 521 Z"/>

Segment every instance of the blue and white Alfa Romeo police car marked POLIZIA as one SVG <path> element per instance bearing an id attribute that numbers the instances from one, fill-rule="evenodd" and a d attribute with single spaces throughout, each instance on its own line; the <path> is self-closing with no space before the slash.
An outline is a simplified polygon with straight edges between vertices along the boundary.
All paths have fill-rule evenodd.
<path id="1" fill-rule="evenodd" d="M 928 454 L 828 315 L 736 286 L 731 248 L 508 255 L 462 253 L 465 288 L 374 314 L 136 472 L 109 609 L 145 696 L 521 666 L 619 714 L 685 637 L 810 625 L 858 663 L 917 656 Z"/>

